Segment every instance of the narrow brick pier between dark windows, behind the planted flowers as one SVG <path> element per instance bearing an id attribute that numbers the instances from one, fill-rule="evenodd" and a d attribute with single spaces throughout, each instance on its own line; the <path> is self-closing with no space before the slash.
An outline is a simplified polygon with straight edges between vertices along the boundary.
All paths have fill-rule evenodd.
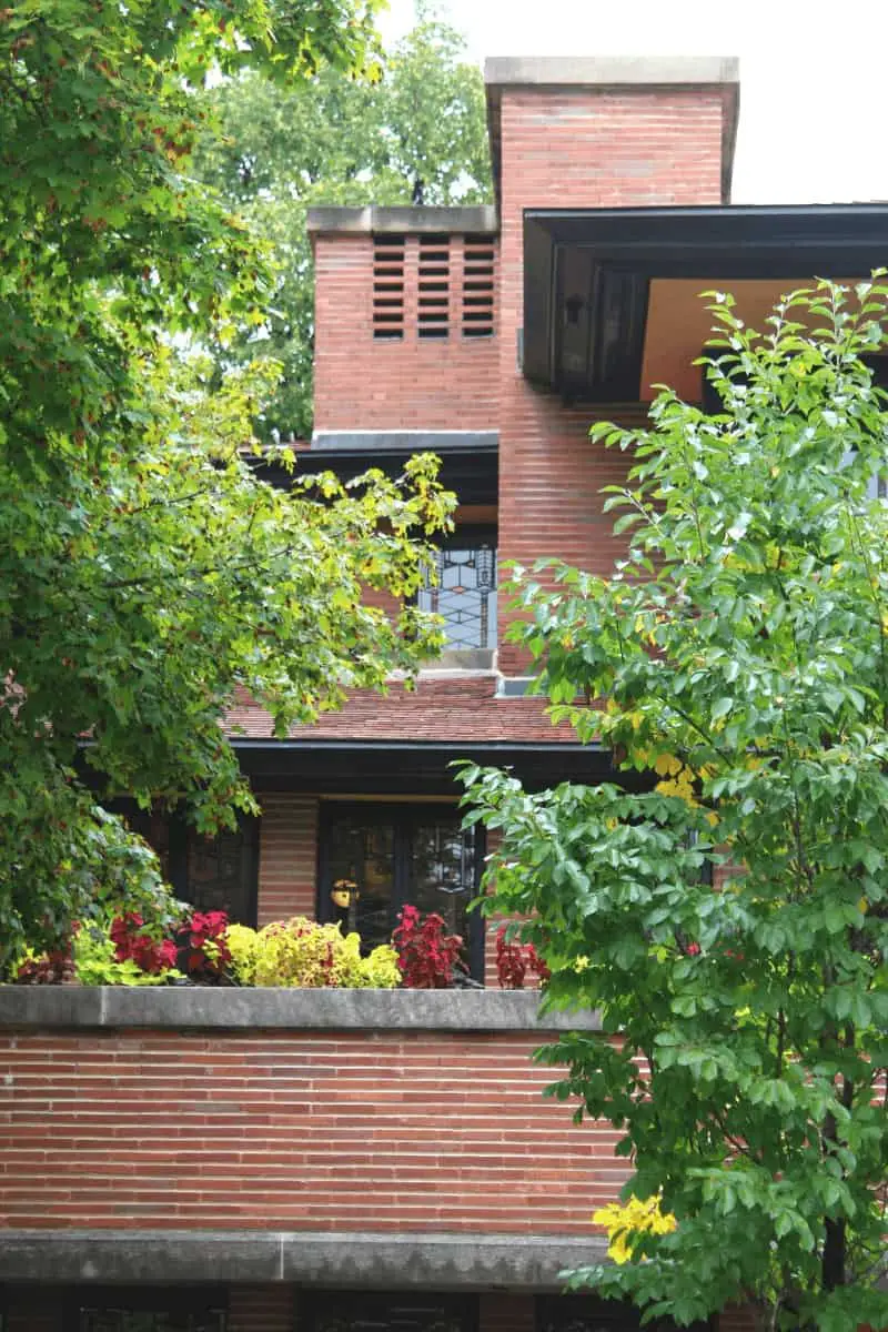
<path id="1" fill-rule="evenodd" d="M 314 915 L 318 802 L 292 793 L 260 794 L 258 924 Z"/>

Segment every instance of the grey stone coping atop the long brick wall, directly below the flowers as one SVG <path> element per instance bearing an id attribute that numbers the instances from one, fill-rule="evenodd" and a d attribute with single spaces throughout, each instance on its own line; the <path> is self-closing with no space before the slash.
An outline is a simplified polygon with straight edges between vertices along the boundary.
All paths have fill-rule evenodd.
<path id="1" fill-rule="evenodd" d="M 598 1014 L 539 1012 L 525 990 L 248 990 L 0 986 L 0 1028 L 599 1031 Z"/>

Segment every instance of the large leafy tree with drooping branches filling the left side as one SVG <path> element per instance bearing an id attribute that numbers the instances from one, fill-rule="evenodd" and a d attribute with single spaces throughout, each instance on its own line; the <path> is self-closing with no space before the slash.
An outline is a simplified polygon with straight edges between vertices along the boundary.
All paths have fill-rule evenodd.
<path id="1" fill-rule="evenodd" d="M 431 460 L 273 485 L 250 454 L 268 368 L 186 354 L 256 317 L 261 246 L 185 174 L 213 64 L 306 77 L 365 57 L 342 0 L 32 0 L 0 11 L 0 970 L 97 902 L 157 910 L 157 864 L 103 799 L 252 797 L 222 735 L 238 687 L 278 734 L 437 642 L 407 606 L 450 501 Z"/>

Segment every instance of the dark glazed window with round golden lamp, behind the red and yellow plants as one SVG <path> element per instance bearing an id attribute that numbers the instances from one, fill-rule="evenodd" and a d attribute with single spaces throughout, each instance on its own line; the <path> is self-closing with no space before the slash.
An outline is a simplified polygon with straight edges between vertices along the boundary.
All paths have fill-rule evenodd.
<path id="1" fill-rule="evenodd" d="M 435 911 L 449 934 L 462 935 L 463 960 L 481 979 L 483 928 L 467 907 L 481 883 L 483 832 L 463 832 L 461 822 L 446 805 L 324 805 L 318 918 L 357 930 L 374 948 L 389 942 L 405 904 Z M 337 884 L 354 884 L 347 906 Z"/>

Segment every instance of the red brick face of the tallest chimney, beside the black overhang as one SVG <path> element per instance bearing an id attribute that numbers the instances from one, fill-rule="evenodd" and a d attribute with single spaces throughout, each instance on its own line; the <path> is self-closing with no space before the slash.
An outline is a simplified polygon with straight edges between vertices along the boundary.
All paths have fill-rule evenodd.
<path id="1" fill-rule="evenodd" d="M 619 484 L 628 461 L 587 438 L 592 408 L 563 408 L 515 365 L 523 210 L 718 204 L 722 93 L 506 88 L 501 117 L 499 555 L 556 555 L 604 573 L 619 547 L 600 489 Z M 526 659 L 503 645 L 506 623 L 499 665 L 519 673 Z"/>

